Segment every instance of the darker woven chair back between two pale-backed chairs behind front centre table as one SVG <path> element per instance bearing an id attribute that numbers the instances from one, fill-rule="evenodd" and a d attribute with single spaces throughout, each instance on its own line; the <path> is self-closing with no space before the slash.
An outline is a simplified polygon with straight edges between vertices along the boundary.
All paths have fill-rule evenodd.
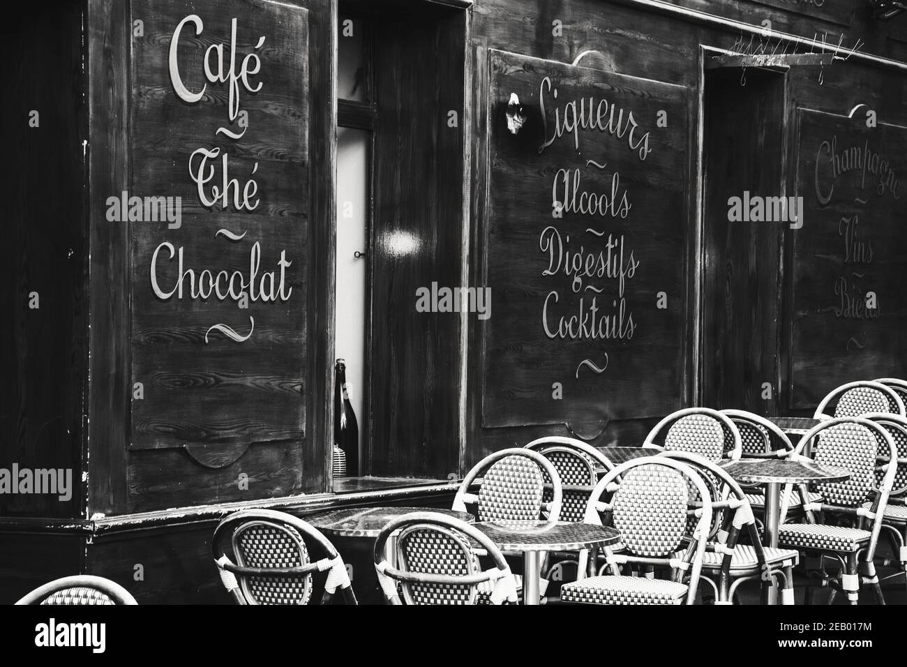
<path id="1" fill-rule="evenodd" d="M 586 514 L 592 488 L 599 481 L 599 474 L 613 469 L 614 465 L 598 449 L 572 437 L 540 437 L 526 448 L 539 452 L 551 461 L 551 465 L 561 476 L 561 521 L 580 523 Z M 554 499 L 551 478 L 544 469 L 541 476 L 545 483 L 542 501 L 551 503 Z"/>

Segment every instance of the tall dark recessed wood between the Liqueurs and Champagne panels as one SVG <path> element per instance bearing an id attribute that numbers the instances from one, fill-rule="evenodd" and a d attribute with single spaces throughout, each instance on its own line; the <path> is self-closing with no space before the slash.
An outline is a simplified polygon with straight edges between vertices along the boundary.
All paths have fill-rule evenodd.
<path id="1" fill-rule="evenodd" d="M 745 191 L 784 192 L 785 77 L 738 69 L 706 78 L 703 405 L 775 414 L 784 222 L 728 221 Z M 771 398 L 764 398 L 764 383 Z"/>

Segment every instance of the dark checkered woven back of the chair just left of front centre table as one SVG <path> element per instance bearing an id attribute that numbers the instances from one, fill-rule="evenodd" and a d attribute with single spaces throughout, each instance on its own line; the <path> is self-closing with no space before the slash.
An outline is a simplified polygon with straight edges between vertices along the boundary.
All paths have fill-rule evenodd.
<path id="1" fill-rule="evenodd" d="M 463 536 L 440 528 L 417 526 L 400 535 L 398 547 L 405 570 L 420 574 L 466 576 L 480 571 Z M 470 584 L 404 583 L 414 604 L 473 604 L 476 586 Z M 485 595 L 487 603 L 490 594 Z"/>

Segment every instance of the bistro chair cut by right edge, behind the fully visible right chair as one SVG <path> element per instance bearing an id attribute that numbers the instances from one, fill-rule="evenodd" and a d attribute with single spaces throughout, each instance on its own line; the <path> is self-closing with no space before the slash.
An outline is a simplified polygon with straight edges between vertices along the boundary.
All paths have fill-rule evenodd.
<path id="1" fill-rule="evenodd" d="M 907 586 L 907 419 L 897 417 L 896 415 L 866 415 L 880 424 L 894 440 L 897 447 L 898 459 L 896 461 L 896 472 L 894 473 L 894 482 L 892 492 L 888 497 L 888 505 L 885 505 L 883 515 L 883 529 L 889 537 L 892 545 L 894 557 L 892 559 L 882 559 L 881 564 L 884 566 L 900 566 L 901 573 L 892 574 L 886 579 L 904 575 L 904 584 Z M 877 487 L 882 486 L 884 481 L 886 464 L 890 463 L 890 453 L 886 450 L 883 440 L 879 440 L 879 450 L 877 452 L 875 467 L 875 484 Z M 863 503 L 863 508 L 872 510 L 872 502 Z"/>

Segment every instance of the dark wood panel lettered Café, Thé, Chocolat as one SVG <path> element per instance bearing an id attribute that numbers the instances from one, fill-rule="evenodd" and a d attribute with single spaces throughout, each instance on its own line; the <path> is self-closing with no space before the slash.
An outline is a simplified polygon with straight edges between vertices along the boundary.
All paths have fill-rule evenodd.
<path id="1" fill-rule="evenodd" d="M 185 18 L 193 13 L 198 25 Z M 130 446 L 298 446 L 306 394 L 307 10 L 268 0 L 166 9 L 135 0 L 132 16 L 141 16 L 145 34 L 132 37 L 130 194 L 190 206 L 176 229 L 131 223 L 132 381 L 144 383 L 144 397 L 132 400 Z M 259 211 L 266 201 L 283 215 Z M 223 279 L 216 288 L 211 274 Z"/>

